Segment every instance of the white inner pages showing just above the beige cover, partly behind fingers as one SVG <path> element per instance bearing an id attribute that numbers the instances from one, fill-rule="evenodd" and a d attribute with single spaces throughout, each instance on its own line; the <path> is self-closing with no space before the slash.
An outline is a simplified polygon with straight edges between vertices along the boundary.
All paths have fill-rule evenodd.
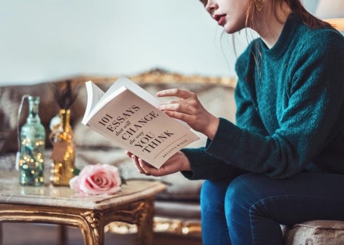
<path id="1" fill-rule="evenodd" d="M 125 86 L 125 87 L 129 88 L 132 92 L 136 93 L 138 96 L 143 98 L 143 100 L 147 101 L 149 104 L 153 105 L 155 108 L 159 108 L 161 102 L 156 97 L 154 97 L 149 92 L 147 92 L 142 87 L 140 87 L 138 84 L 136 84 L 135 82 L 131 81 L 130 79 L 128 79 L 124 76 L 119 77 L 114 82 L 114 84 L 111 85 L 111 87 L 104 94 L 102 100 L 105 100 L 105 98 L 107 98 L 108 96 L 111 96 L 111 94 L 113 92 L 115 92 L 115 90 L 121 86 Z M 100 103 L 102 103 L 102 102 L 100 102 Z M 187 129 L 191 129 L 191 127 L 186 122 L 179 120 L 179 119 L 176 119 L 176 118 L 173 118 L 173 120 L 182 124 Z"/>

